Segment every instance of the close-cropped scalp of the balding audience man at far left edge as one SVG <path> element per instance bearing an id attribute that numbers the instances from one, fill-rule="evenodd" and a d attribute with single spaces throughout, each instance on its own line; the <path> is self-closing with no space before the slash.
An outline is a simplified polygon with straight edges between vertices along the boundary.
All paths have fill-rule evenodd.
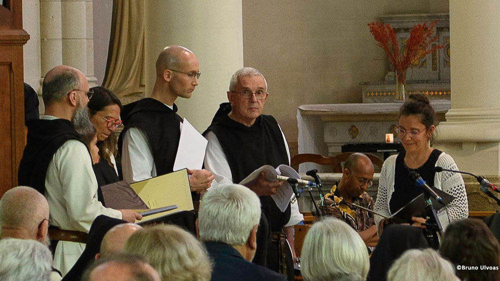
<path id="1" fill-rule="evenodd" d="M 16 186 L 0 199 L 0 231 L 4 226 L 36 231 L 40 221 L 47 216 L 47 199 L 34 188 Z"/>

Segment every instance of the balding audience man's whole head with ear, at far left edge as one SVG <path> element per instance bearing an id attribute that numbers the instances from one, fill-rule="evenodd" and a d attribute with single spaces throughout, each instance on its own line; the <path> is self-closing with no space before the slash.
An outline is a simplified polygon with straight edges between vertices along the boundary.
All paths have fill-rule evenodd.
<path id="1" fill-rule="evenodd" d="M 17 186 L 0 199 L 0 238 L 32 239 L 49 243 L 48 203 L 34 188 Z"/>

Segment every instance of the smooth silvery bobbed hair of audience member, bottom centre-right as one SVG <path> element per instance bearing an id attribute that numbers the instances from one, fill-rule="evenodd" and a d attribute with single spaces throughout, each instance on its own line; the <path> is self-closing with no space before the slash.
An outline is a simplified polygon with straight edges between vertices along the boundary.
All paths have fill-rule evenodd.
<path id="1" fill-rule="evenodd" d="M 327 217 L 307 231 L 300 266 L 304 280 L 362 281 L 368 269 L 366 245 L 344 221 Z"/>

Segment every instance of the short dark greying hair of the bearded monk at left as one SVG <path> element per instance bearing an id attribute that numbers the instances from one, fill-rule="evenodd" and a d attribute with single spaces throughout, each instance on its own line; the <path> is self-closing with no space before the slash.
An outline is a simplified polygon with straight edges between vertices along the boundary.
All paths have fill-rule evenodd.
<path id="1" fill-rule="evenodd" d="M 51 71 L 55 73 L 50 73 Z M 80 77 L 76 68 L 59 67 L 56 69 L 54 67 L 47 72 L 43 79 L 41 90 L 43 103 L 47 105 L 52 102 L 61 101 L 68 92 L 79 87 Z"/>

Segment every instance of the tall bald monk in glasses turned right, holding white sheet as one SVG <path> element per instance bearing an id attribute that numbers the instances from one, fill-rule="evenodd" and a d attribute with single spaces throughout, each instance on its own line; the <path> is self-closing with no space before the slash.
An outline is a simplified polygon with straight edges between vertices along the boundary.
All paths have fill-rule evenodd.
<path id="1" fill-rule="evenodd" d="M 151 97 L 129 103 L 121 112 L 124 128 L 118 148 L 126 182 L 173 171 L 182 122 L 176 113 L 175 100 L 191 97 L 199 75 L 198 59 L 186 47 L 169 45 L 159 53 Z M 187 172 L 191 175 L 191 191 L 201 193 L 210 187 L 211 172 L 205 169 Z"/>

